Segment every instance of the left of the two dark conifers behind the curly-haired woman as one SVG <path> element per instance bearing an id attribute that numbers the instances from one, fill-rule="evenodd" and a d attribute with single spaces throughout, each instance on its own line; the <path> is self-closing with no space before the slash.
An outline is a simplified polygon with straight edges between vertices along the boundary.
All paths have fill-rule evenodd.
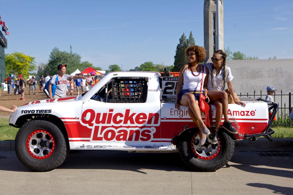
<path id="1" fill-rule="evenodd" d="M 174 70 L 178 72 L 181 67 L 187 62 L 187 58 L 185 56 L 185 49 L 187 47 L 186 36 L 183 35 L 179 39 L 179 44 L 176 47 L 176 54 L 174 56 Z"/>

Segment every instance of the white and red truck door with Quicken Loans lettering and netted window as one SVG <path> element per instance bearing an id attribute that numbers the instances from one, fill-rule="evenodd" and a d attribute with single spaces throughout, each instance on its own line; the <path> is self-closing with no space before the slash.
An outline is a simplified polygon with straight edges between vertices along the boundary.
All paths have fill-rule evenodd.
<path id="1" fill-rule="evenodd" d="M 115 77 L 83 102 L 81 123 L 92 129 L 90 145 L 159 150 L 160 104 L 148 98 L 149 82 L 146 77 Z"/>

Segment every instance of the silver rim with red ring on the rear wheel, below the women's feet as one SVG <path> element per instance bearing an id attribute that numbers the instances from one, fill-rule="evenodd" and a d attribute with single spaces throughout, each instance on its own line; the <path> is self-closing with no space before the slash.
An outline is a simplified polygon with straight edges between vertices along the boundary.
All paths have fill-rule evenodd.
<path id="1" fill-rule="evenodd" d="M 210 134 L 211 135 L 211 134 Z M 221 139 L 218 137 L 218 142 L 212 144 L 211 137 L 207 136 L 207 140 L 203 146 L 199 143 L 200 135 L 199 132 L 195 133 L 191 139 L 191 150 L 197 158 L 202 160 L 211 160 L 218 156 L 221 151 Z"/>

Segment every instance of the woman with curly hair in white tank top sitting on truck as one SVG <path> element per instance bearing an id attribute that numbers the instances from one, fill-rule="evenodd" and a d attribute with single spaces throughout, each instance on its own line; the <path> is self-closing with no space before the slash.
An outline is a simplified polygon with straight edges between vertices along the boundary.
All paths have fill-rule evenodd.
<path id="1" fill-rule="evenodd" d="M 210 131 L 201 119 L 198 101 L 200 93 L 203 93 L 207 101 L 209 101 L 207 87 L 208 69 L 201 66 L 199 62 L 204 61 L 206 53 L 203 47 L 192 45 L 185 50 L 185 55 L 190 66 L 185 71 L 181 68 L 179 72 L 175 108 L 179 110 L 180 104 L 189 107 L 193 116 L 192 120 L 200 129 L 200 144 L 203 145 Z M 202 76 L 204 77 L 203 87 L 201 87 Z"/>

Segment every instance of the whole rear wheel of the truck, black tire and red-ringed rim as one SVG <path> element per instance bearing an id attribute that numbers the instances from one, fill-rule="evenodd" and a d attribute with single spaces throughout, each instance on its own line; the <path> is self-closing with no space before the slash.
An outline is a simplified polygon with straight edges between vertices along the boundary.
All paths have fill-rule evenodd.
<path id="1" fill-rule="evenodd" d="M 200 172 L 212 172 L 230 161 L 235 143 L 225 132 L 219 132 L 218 143 L 212 144 L 212 134 L 201 147 L 199 131 L 186 131 L 179 137 L 179 155 L 185 164 Z"/>

